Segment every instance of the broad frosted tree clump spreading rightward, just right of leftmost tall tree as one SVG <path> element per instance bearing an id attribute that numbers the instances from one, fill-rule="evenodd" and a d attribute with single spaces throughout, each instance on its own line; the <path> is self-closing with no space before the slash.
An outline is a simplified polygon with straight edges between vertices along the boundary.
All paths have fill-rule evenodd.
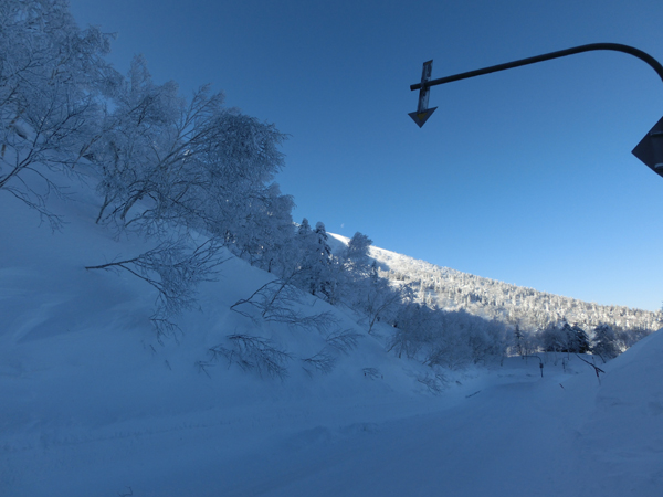
<path id="1" fill-rule="evenodd" d="M 152 82 L 143 57 L 113 102 L 109 131 L 93 156 L 103 171 L 98 220 L 147 234 L 185 225 L 262 258 L 292 223 L 292 198 L 273 183 L 284 136 L 225 108 L 209 87 L 187 103 L 175 83 Z"/>

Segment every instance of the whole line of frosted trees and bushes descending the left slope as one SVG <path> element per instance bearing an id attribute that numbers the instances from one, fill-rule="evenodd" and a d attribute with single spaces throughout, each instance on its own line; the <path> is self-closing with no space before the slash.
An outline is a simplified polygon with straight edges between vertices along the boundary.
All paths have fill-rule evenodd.
<path id="1" fill-rule="evenodd" d="M 513 322 L 444 310 L 412 278 L 390 278 L 362 233 L 333 253 L 324 223 L 294 223 L 293 198 L 274 181 L 285 135 L 225 106 L 209 86 L 185 97 L 173 82 L 155 83 L 141 56 L 119 74 L 105 59 L 110 41 L 98 28 L 80 29 L 62 0 L 0 1 L 0 192 L 59 230 L 49 197 L 66 198 L 67 181 L 94 188 L 94 221 L 148 248 L 86 268 L 150 285 L 159 340 L 178 332 L 200 283 L 215 278 L 230 252 L 273 276 L 233 310 L 325 335 L 328 347 L 306 358 L 311 370 L 328 371 L 332 351 L 347 352 L 357 336 L 329 313 L 302 314 L 306 294 L 354 313 L 368 335 L 388 330 L 389 351 L 431 368 L 503 357 L 514 339 L 534 347 L 526 334 L 514 336 Z M 549 347 L 568 348 L 564 337 Z M 287 352 L 244 335 L 231 342 L 211 353 L 282 374 Z"/>

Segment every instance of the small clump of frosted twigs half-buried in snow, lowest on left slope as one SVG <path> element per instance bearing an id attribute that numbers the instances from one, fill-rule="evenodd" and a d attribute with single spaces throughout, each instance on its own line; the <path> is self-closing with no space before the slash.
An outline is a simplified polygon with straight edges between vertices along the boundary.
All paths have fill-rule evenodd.
<path id="1" fill-rule="evenodd" d="M 272 340 L 250 335 L 229 335 L 229 348 L 218 345 L 209 349 L 213 360 L 224 357 L 229 366 L 238 364 L 244 371 L 257 371 L 263 377 L 284 379 L 292 356 L 276 348 Z"/>

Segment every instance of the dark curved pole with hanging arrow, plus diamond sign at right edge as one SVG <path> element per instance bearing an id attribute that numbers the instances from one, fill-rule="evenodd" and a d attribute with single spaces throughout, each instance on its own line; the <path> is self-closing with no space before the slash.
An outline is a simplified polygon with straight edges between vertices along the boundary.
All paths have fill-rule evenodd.
<path id="1" fill-rule="evenodd" d="M 470 77 L 482 76 L 484 74 L 496 73 L 498 71 L 506 71 L 514 67 L 520 67 L 523 65 L 536 64 L 537 62 L 550 61 L 552 59 L 565 57 L 568 55 L 575 55 L 582 52 L 591 52 L 597 50 L 610 50 L 614 52 L 623 52 L 633 55 L 641 61 L 646 62 L 663 81 L 663 65 L 650 54 L 634 49 L 633 46 L 622 45 L 619 43 L 591 43 L 588 45 L 575 46 L 572 49 L 559 50 L 557 52 L 550 52 L 534 57 L 522 59 L 519 61 L 507 62 L 506 64 L 492 65 L 490 67 L 480 68 L 476 71 L 469 71 L 466 73 L 454 74 L 452 76 L 440 77 L 438 80 L 431 80 L 432 63 L 428 61 L 424 63 L 424 70 L 420 83 L 410 85 L 411 91 L 419 89 L 419 105 L 417 112 L 410 113 L 410 117 L 417 123 L 419 127 L 428 120 L 433 109 L 428 108 L 428 97 L 430 94 L 430 87 L 442 85 L 445 83 L 452 83 L 454 81 L 467 80 Z M 654 127 L 645 135 L 645 137 L 633 149 L 633 155 L 649 166 L 654 172 L 663 177 L 663 118 L 654 125 Z"/>

